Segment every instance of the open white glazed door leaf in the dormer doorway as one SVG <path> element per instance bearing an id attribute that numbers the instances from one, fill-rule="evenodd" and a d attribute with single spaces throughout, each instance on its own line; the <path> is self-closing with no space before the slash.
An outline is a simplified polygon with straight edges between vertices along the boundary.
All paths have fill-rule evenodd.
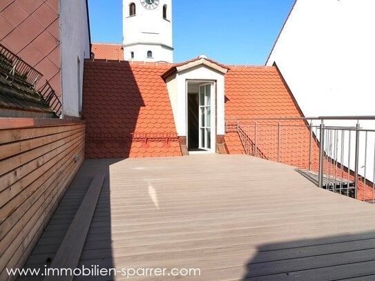
<path id="1" fill-rule="evenodd" d="M 211 84 L 199 87 L 199 148 L 211 149 Z"/>

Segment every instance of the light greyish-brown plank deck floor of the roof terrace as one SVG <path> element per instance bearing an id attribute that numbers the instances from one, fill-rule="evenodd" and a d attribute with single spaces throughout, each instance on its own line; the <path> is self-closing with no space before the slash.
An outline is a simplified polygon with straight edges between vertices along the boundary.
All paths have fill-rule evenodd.
<path id="1" fill-rule="evenodd" d="M 99 171 L 107 177 L 80 267 L 201 272 L 135 280 L 375 278 L 375 206 L 319 189 L 293 167 L 190 155 L 86 160 L 77 177 Z M 89 280 L 111 279 L 127 278 Z"/>

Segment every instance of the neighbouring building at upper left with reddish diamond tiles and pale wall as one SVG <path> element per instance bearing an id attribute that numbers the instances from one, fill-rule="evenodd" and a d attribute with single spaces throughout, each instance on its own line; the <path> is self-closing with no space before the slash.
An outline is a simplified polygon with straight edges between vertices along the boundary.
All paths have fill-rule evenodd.
<path id="1" fill-rule="evenodd" d="M 62 116 L 79 117 L 84 59 L 90 57 L 86 0 L 0 3 L 0 43 L 43 75 L 63 104 Z"/>

